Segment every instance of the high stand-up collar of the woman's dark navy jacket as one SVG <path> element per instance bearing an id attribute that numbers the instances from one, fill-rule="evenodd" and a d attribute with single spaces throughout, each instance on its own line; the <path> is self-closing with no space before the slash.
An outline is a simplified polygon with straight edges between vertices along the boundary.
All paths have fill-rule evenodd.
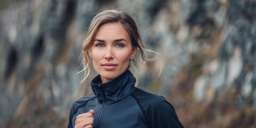
<path id="1" fill-rule="evenodd" d="M 135 89 L 136 79 L 129 69 L 115 78 L 113 81 L 102 83 L 100 75 L 91 81 L 92 91 L 96 95 L 99 103 L 111 104 L 127 97 Z"/>

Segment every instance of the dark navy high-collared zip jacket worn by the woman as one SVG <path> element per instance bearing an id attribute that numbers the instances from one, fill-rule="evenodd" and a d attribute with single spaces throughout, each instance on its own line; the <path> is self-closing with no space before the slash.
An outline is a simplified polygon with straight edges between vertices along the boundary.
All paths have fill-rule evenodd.
<path id="1" fill-rule="evenodd" d="M 134 86 L 129 70 L 113 81 L 102 83 L 100 75 L 92 82 L 94 94 L 73 103 L 68 127 L 75 127 L 76 116 L 94 110 L 93 127 L 183 127 L 173 106 L 162 96 Z"/>

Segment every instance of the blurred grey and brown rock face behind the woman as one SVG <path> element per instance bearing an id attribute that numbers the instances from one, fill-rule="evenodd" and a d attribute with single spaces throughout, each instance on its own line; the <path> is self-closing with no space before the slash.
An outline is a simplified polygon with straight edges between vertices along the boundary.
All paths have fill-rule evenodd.
<path id="1" fill-rule="evenodd" d="M 148 58 L 139 87 L 164 95 L 185 127 L 256 127 L 255 0 L 3 0 L 0 127 L 66 127 L 91 93 L 79 57 L 93 16 L 121 9 Z M 138 58 L 139 59 L 139 58 Z M 159 73 L 161 73 L 159 75 Z"/>

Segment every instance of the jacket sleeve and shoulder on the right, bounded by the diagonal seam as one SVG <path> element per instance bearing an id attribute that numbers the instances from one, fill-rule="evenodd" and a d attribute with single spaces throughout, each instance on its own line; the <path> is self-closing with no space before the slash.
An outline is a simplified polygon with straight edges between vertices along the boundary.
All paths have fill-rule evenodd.
<path id="1" fill-rule="evenodd" d="M 171 103 L 161 95 L 136 88 L 132 96 L 137 100 L 149 127 L 183 127 Z"/>

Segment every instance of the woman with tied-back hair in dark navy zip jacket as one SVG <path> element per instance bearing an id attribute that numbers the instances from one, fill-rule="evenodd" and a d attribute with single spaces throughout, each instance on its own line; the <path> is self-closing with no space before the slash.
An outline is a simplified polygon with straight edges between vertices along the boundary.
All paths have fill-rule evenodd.
<path id="1" fill-rule="evenodd" d="M 83 64 L 88 75 L 91 59 L 99 75 L 91 81 L 93 94 L 73 103 L 68 127 L 183 127 L 169 102 L 135 87 L 137 78 L 129 67 L 137 49 L 145 60 L 137 26 L 128 14 L 107 10 L 93 18 Z"/>

